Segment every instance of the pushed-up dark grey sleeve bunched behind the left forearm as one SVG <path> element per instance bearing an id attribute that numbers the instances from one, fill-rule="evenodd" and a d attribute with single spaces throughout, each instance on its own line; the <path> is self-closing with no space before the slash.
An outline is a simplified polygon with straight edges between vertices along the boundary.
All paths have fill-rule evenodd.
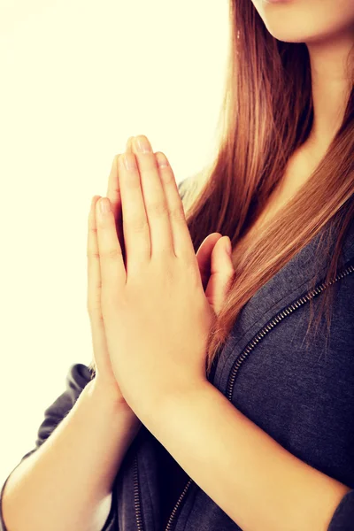
<path id="1" fill-rule="evenodd" d="M 44 443 L 46 439 L 53 432 L 54 428 L 65 418 L 79 398 L 81 391 L 91 381 L 91 373 L 89 367 L 81 363 L 70 366 L 66 375 L 66 389 L 58 398 L 44 411 L 44 419 L 41 426 L 38 428 L 37 440 L 35 442 L 35 448 L 29 450 L 19 463 L 12 469 L 12 472 L 22 463 L 22 461 L 32 455 L 38 448 Z M 4 485 L 0 492 L 0 531 L 8 531 L 4 524 L 3 515 L 3 493 L 6 482 L 11 476 L 12 472 L 7 476 Z M 114 496 L 113 498 L 114 499 Z M 111 511 L 108 518 L 102 528 L 102 531 L 109 531 L 112 527 L 112 522 L 117 521 L 115 504 L 112 503 Z"/>

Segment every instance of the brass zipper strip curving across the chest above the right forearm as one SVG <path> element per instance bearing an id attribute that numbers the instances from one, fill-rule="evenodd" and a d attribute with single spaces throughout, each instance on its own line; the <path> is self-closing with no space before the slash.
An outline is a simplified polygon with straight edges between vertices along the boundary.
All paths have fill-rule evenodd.
<path id="1" fill-rule="evenodd" d="M 304 304 L 308 303 L 312 298 L 315 296 L 318 296 L 322 291 L 328 288 L 328 286 L 331 286 L 336 281 L 342 280 L 345 276 L 347 276 L 350 273 L 354 272 L 354 266 L 348 266 L 346 269 L 342 271 L 342 273 L 338 273 L 335 279 L 329 282 L 322 282 L 322 284 L 319 285 L 318 288 L 312 289 L 309 293 L 307 293 L 304 296 L 301 296 L 298 298 L 295 303 L 289 304 L 289 306 L 285 310 L 281 310 L 271 321 L 270 323 L 266 324 L 265 327 L 263 327 L 260 332 L 249 342 L 247 347 L 242 351 L 240 356 L 235 360 L 235 364 L 232 368 L 232 371 L 228 377 L 227 381 L 227 398 L 231 402 L 233 391 L 234 391 L 234 385 L 235 385 L 235 379 L 236 374 L 238 373 L 238 370 L 240 366 L 242 365 L 242 362 L 247 358 L 247 356 L 250 354 L 251 350 L 254 349 L 254 347 L 258 344 L 258 342 L 265 337 L 268 332 L 270 332 L 273 327 L 275 327 L 278 323 L 280 323 L 283 319 L 288 317 L 288 315 L 297 308 L 300 308 Z"/>

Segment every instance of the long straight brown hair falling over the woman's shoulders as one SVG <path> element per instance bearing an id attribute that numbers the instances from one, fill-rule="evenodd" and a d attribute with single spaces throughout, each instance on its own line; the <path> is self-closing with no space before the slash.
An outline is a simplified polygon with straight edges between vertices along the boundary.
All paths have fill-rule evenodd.
<path id="1" fill-rule="evenodd" d="M 289 158 L 312 129 L 306 45 L 275 39 L 250 0 L 230 0 L 230 35 L 218 152 L 211 165 L 182 186 L 195 250 L 213 232 L 228 235 L 235 247 L 258 219 Z M 352 86 L 342 126 L 325 156 L 296 196 L 259 232 L 257 242 L 237 259 L 227 298 L 210 331 L 207 373 L 244 304 L 328 222 L 337 232 L 326 281 L 334 278 L 354 212 L 353 144 Z M 329 252 L 332 242 L 325 243 L 321 251 Z M 322 296 L 328 325 L 331 296 L 332 289 Z"/>

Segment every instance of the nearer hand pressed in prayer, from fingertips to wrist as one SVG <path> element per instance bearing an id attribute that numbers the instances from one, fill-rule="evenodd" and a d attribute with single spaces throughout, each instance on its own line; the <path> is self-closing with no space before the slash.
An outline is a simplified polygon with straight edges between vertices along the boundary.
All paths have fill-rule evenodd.
<path id="1" fill-rule="evenodd" d="M 164 155 L 140 151 L 135 142 L 134 151 L 117 158 L 120 237 L 107 197 L 96 201 L 95 216 L 112 373 L 127 404 L 143 416 L 166 393 L 206 382 L 207 338 L 234 269 L 218 233 L 205 238 L 198 259 L 171 166 L 159 167 Z M 206 249 L 212 275 L 204 292 Z"/>

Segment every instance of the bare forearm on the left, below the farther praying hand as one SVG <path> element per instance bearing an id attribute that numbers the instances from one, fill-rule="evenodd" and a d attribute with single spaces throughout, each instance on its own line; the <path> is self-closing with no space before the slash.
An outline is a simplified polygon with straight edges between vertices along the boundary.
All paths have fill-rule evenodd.
<path id="1" fill-rule="evenodd" d="M 101 529 L 114 477 L 139 426 L 127 406 L 89 382 L 50 437 L 9 477 L 3 497 L 8 530 Z"/>

